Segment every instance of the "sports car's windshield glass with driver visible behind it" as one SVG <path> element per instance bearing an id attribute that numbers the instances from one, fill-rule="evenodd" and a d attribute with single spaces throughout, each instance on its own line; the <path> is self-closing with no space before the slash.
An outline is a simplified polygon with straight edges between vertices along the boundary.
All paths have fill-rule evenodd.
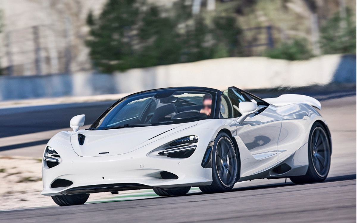
<path id="1" fill-rule="evenodd" d="M 140 93 L 116 102 L 90 129 L 165 125 L 213 118 L 214 101 L 214 93 L 199 90 Z"/>

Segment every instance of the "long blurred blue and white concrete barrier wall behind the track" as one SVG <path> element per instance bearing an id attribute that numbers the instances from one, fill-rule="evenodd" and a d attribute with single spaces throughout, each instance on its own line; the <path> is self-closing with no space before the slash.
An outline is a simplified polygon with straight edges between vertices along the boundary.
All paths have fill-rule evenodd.
<path id="1" fill-rule="evenodd" d="M 229 57 L 131 69 L 114 74 L 76 72 L 47 76 L 0 77 L 0 100 L 89 96 L 174 86 L 226 89 L 298 87 L 356 83 L 356 55 L 324 55 L 308 61 Z"/>

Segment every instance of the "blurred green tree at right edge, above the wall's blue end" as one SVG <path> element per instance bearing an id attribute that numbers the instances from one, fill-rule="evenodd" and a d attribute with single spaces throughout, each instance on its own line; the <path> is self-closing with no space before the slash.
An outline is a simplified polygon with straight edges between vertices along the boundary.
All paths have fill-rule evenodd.
<path id="1" fill-rule="evenodd" d="M 321 28 L 321 49 L 324 54 L 356 54 L 356 22 L 351 9 L 346 10 L 346 17 L 337 12 L 327 20 Z"/>

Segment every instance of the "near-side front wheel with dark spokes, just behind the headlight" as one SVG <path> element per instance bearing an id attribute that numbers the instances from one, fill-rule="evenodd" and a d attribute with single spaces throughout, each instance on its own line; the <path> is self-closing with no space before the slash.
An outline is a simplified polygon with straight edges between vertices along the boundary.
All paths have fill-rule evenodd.
<path id="1" fill-rule="evenodd" d="M 223 157 L 225 158 L 222 159 Z M 212 184 L 200 186 L 201 191 L 203 193 L 231 191 L 238 175 L 237 157 L 231 138 L 224 132 L 218 133 L 212 149 Z"/>

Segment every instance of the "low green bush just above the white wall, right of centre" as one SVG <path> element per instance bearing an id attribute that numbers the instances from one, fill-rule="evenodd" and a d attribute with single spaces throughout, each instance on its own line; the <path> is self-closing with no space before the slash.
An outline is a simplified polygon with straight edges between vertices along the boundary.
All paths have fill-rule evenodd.
<path id="1" fill-rule="evenodd" d="M 312 57 L 306 39 L 294 39 L 291 43 L 283 42 L 274 49 L 265 52 L 265 56 L 273 59 L 307 60 Z"/>

